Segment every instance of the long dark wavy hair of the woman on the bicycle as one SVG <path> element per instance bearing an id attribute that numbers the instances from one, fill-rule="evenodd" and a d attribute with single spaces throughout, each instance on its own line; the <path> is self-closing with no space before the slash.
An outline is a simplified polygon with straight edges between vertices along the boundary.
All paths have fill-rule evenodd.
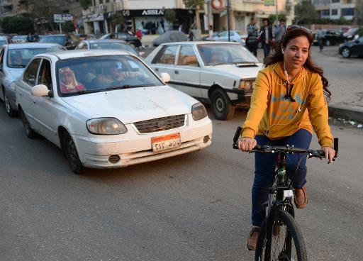
<path id="1" fill-rule="evenodd" d="M 303 65 L 303 67 L 306 67 L 306 69 L 310 70 L 311 72 L 316 72 L 317 74 L 320 75 L 321 81 L 323 82 L 324 94 L 328 97 L 328 99 L 330 99 L 331 91 L 328 89 L 328 86 L 329 86 L 328 79 L 326 79 L 323 76 L 323 69 L 318 67 L 318 65 L 316 65 L 315 62 L 313 61 L 313 59 L 311 58 L 310 47 L 311 47 L 311 44 L 313 43 L 314 37 L 313 37 L 313 34 L 308 31 L 308 29 L 294 28 L 294 29 L 286 30 L 286 33 L 283 36 L 283 38 L 281 38 L 281 40 L 277 41 L 276 44 L 274 45 L 275 50 L 272 53 L 272 55 L 269 55 L 266 58 L 264 58 L 264 66 L 267 67 L 274 63 L 284 61 L 284 54 L 281 52 L 281 49 L 283 49 L 283 48 L 285 49 L 286 45 L 289 43 L 289 41 L 298 36 L 306 36 L 306 38 L 308 38 L 308 41 L 310 44 L 308 58 L 306 59 L 306 62 Z"/>

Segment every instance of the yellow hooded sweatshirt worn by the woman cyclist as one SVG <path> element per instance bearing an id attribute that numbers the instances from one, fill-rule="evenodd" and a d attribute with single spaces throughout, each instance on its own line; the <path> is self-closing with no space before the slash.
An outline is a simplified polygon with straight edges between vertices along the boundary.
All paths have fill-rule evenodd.
<path id="1" fill-rule="evenodd" d="M 291 101 L 285 99 L 286 75 L 282 67 L 282 62 L 278 62 L 259 71 L 241 137 L 266 135 L 275 140 L 300 129 L 310 133 L 315 130 L 319 144 L 333 148 L 320 75 L 302 67 L 294 81 L 289 82 L 288 91 L 295 100 Z"/>

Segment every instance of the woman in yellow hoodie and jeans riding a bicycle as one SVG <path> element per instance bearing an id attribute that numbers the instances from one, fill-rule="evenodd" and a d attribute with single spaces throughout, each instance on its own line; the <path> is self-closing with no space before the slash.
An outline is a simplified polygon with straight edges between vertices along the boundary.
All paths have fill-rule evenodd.
<path id="1" fill-rule="evenodd" d="M 330 163 L 335 156 L 333 135 L 328 125 L 330 97 L 328 79 L 311 59 L 313 35 L 301 26 L 286 29 L 277 50 L 264 59 L 264 70 L 257 75 L 250 110 L 242 126 L 238 148 L 250 151 L 259 145 L 294 145 L 308 149 L 313 130 L 321 150 Z M 252 231 L 247 248 L 255 250 L 259 227 L 265 217 L 268 189 L 274 183 L 276 154 L 255 154 L 255 180 L 252 187 Z M 295 205 L 303 209 L 308 203 L 306 194 L 306 157 L 289 155 L 286 173 L 295 188 Z"/>

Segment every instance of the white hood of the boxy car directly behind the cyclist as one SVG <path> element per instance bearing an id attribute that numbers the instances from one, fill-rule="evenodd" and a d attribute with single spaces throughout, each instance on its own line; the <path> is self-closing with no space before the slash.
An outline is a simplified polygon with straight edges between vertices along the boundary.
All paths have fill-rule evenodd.
<path id="1" fill-rule="evenodd" d="M 216 70 L 216 73 L 223 71 L 223 74 L 229 74 L 237 76 L 242 79 L 255 78 L 259 70 L 262 70 L 262 64 L 256 63 L 251 65 L 215 65 L 209 67 L 212 71 Z"/>

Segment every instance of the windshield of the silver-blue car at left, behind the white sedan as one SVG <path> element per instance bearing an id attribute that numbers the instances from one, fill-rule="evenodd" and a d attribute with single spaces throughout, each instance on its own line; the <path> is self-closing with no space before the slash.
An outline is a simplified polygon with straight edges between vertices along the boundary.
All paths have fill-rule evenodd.
<path id="1" fill-rule="evenodd" d="M 8 50 L 7 65 L 10 68 L 25 68 L 28 62 L 35 55 L 45 52 L 59 52 L 63 48 L 26 48 L 26 49 L 13 49 Z"/>

